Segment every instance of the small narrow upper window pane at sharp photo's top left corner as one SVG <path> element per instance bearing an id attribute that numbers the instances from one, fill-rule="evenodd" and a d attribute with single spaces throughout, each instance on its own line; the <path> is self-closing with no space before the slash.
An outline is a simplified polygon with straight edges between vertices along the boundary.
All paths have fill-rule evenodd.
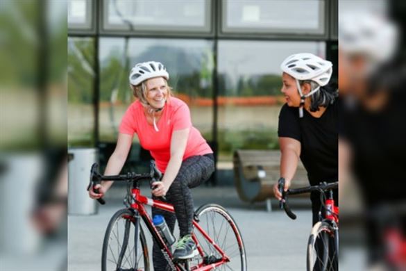
<path id="1" fill-rule="evenodd" d="M 91 0 L 68 0 L 69 28 L 90 29 L 92 22 Z"/>

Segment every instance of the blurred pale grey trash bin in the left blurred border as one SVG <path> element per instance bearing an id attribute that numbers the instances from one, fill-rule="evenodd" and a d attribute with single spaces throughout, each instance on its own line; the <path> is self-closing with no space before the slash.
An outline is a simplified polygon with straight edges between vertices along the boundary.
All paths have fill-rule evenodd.
<path id="1" fill-rule="evenodd" d="M 0 164 L 3 167 L 0 174 L 0 252 L 14 255 L 37 252 L 41 236 L 33 227 L 31 215 L 36 201 L 35 189 L 44 174 L 42 156 L 3 153 Z"/>

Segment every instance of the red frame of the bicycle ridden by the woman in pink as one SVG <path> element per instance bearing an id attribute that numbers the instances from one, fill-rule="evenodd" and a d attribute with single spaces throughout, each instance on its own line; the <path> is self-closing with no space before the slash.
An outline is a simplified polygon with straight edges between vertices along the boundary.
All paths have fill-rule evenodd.
<path id="1" fill-rule="evenodd" d="M 142 220 L 146 224 L 146 227 L 151 232 L 151 235 L 153 236 L 155 242 L 158 243 L 164 256 L 167 257 L 168 261 L 172 262 L 171 251 L 170 251 L 169 247 L 167 246 L 167 244 L 164 242 L 162 236 L 160 236 L 160 233 L 158 233 L 158 230 L 154 226 L 154 224 L 151 220 L 151 217 L 149 216 L 148 212 L 146 211 L 146 208 L 144 207 L 144 205 L 149 205 L 149 206 L 159 208 L 164 211 L 169 211 L 171 213 L 174 213 L 174 206 L 172 206 L 171 204 L 167 204 L 165 202 L 160 202 L 158 200 L 151 199 L 149 197 L 145 197 L 144 195 L 141 195 L 138 183 L 136 183 L 135 187 L 131 189 L 131 195 L 133 196 L 133 201 L 130 203 L 130 208 L 132 208 L 133 211 L 135 211 L 135 233 L 136 233 L 135 238 L 138 238 L 137 233 L 139 232 L 139 216 L 140 216 L 140 217 L 142 217 Z M 226 256 L 226 254 L 219 247 L 219 245 L 214 243 L 212 238 L 210 238 L 208 233 L 206 233 L 202 229 L 202 227 L 200 227 L 200 225 L 198 224 L 198 222 L 196 220 L 193 220 L 193 225 L 194 225 L 195 229 L 197 229 L 202 234 L 202 236 L 206 240 L 208 240 L 208 242 L 210 244 L 212 244 L 215 249 L 217 249 L 217 251 L 219 252 L 219 254 L 221 254 L 221 257 L 222 257 L 221 261 L 212 263 L 210 265 L 204 265 L 204 263 L 200 263 L 198 268 L 194 269 L 194 271 L 212 270 L 213 268 L 217 268 L 217 266 L 222 265 L 223 263 L 229 262 L 230 260 L 229 260 L 228 256 Z M 236 229 L 233 229 L 233 230 L 235 231 Z M 198 249 L 199 254 L 203 258 L 203 256 L 204 256 L 203 249 L 202 249 L 201 245 L 199 245 L 198 239 L 196 238 L 194 233 L 192 233 L 192 238 L 194 240 L 194 243 L 196 243 L 196 247 Z M 138 240 L 136 239 L 135 245 L 137 245 L 137 241 Z M 135 247 L 135 253 L 137 253 L 137 247 Z M 137 257 L 137 255 L 135 255 L 135 256 Z M 177 270 L 183 270 L 183 268 L 181 268 L 178 264 L 174 264 L 174 265 Z"/>

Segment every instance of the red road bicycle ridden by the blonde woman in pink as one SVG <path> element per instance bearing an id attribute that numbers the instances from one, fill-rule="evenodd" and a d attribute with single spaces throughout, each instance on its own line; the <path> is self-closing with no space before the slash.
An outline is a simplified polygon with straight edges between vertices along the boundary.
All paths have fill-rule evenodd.
<path id="1" fill-rule="evenodd" d="M 145 197 L 140 192 L 140 183 L 160 181 L 162 174 L 151 161 L 150 172 L 146 174 L 128 173 L 103 176 L 97 172 L 97 164 L 92 165 L 90 183 L 87 188 L 101 181 L 126 181 L 127 195 L 123 208 L 110 219 L 105 231 L 101 259 L 102 271 L 141 271 L 151 270 L 149 245 L 146 233 L 158 243 L 162 254 L 169 263 L 169 270 L 242 270 L 246 271 L 246 253 L 241 233 L 235 220 L 225 208 L 217 204 L 205 204 L 194 214 L 192 238 L 197 245 L 198 256 L 184 261 L 174 261 L 171 247 L 155 228 L 146 211 L 153 206 L 174 212 L 171 204 Z M 104 204 L 103 199 L 98 199 Z M 151 244 L 151 242 L 150 242 Z"/>

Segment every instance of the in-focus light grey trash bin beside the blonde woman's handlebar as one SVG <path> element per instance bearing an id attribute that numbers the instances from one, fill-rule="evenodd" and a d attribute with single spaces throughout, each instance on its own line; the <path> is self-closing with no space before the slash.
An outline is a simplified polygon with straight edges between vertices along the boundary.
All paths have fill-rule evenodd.
<path id="1" fill-rule="evenodd" d="M 97 202 L 89 197 L 90 167 L 97 161 L 97 149 L 72 148 L 68 151 L 68 213 L 69 215 L 94 215 Z"/>

